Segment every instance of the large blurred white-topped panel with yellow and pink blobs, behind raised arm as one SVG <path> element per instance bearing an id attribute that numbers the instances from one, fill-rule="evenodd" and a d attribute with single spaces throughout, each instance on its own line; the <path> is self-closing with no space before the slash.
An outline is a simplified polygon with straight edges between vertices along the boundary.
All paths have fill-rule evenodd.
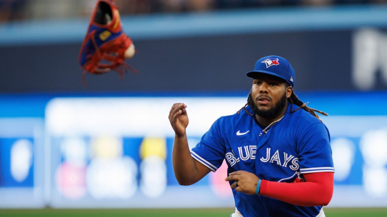
<path id="1" fill-rule="evenodd" d="M 178 185 L 168 120 L 173 103 L 188 105 L 191 147 L 245 98 L 54 98 L 46 107 L 53 207 L 233 206 L 226 167 L 193 186 Z M 216 106 L 216 112 L 209 112 Z M 224 164 L 225 165 L 225 164 Z M 191 195 L 187 199 L 186 195 Z M 195 198 L 195 199 L 193 199 Z"/>

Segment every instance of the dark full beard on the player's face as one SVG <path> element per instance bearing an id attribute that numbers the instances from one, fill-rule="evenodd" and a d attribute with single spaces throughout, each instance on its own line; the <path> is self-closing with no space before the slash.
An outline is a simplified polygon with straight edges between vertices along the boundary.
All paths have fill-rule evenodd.
<path id="1" fill-rule="evenodd" d="M 285 92 L 284 95 L 281 97 L 281 99 L 272 108 L 270 108 L 269 110 L 261 110 L 255 104 L 255 100 L 253 100 L 253 97 L 251 96 L 251 92 L 248 94 L 248 102 L 250 103 L 250 106 L 253 109 L 253 112 L 263 118 L 277 117 L 278 114 L 282 112 L 283 109 L 285 108 L 287 101 L 288 101 L 288 98 L 286 98 L 286 92 Z"/>

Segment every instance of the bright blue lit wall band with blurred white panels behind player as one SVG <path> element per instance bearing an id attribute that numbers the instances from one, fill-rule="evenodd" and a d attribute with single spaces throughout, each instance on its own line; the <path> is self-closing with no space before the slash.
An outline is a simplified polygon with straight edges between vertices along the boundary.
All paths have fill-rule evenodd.
<path id="1" fill-rule="evenodd" d="M 195 185 L 178 185 L 167 116 L 173 102 L 188 105 L 188 143 L 193 147 L 217 117 L 244 105 L 246 95 L 1 95 L 0 207 L 231 207 L 224 167 Z M 330 130 L 336 170 L 329 206 L 385 206 L 387 92 L 298 96 L 329 113 L 321 117 Z M 179 196 L 188 194 L 189 200 Z"/>

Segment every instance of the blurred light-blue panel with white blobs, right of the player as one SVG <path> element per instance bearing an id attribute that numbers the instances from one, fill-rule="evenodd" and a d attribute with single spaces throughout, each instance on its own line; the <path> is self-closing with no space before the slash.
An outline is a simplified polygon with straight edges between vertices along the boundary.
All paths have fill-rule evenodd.
<path id="1" fill-rule="evenodd" d="M 387 116 L 331 116 L 322 120 L 330 131 L 335 167 L 330 206 L 384 206 Z"/>

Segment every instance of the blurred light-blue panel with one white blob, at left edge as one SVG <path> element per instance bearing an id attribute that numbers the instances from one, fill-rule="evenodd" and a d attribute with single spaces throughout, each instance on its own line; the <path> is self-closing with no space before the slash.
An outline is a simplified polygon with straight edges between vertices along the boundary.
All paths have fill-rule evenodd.
<path id="1" fill-rule="evenodd" d="M 0 118 L 0 207 L 45 207 L 43 120 Z"/>

